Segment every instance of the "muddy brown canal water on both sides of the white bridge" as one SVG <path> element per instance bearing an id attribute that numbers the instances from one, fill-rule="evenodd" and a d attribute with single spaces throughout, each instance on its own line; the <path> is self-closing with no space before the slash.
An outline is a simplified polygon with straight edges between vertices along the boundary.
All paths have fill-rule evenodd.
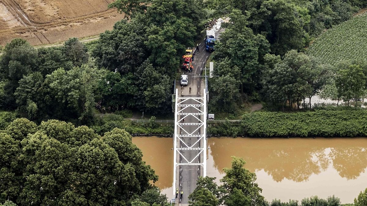
<path id="1" fill-rule="evenodd" d="M 172 195 L 172 138 L 133 137 L 152 165 L 159 181 L 155 183 L 168 198 Z M 342 203 L 352 203 L 367 187 L 367 138 L 208 138 L 207 175 L 224 176 L 231 156 L 246 160 L 255 172 L 262 195 L 268 201 L 301 201 L 317 195 L 335 195 Z"/>

